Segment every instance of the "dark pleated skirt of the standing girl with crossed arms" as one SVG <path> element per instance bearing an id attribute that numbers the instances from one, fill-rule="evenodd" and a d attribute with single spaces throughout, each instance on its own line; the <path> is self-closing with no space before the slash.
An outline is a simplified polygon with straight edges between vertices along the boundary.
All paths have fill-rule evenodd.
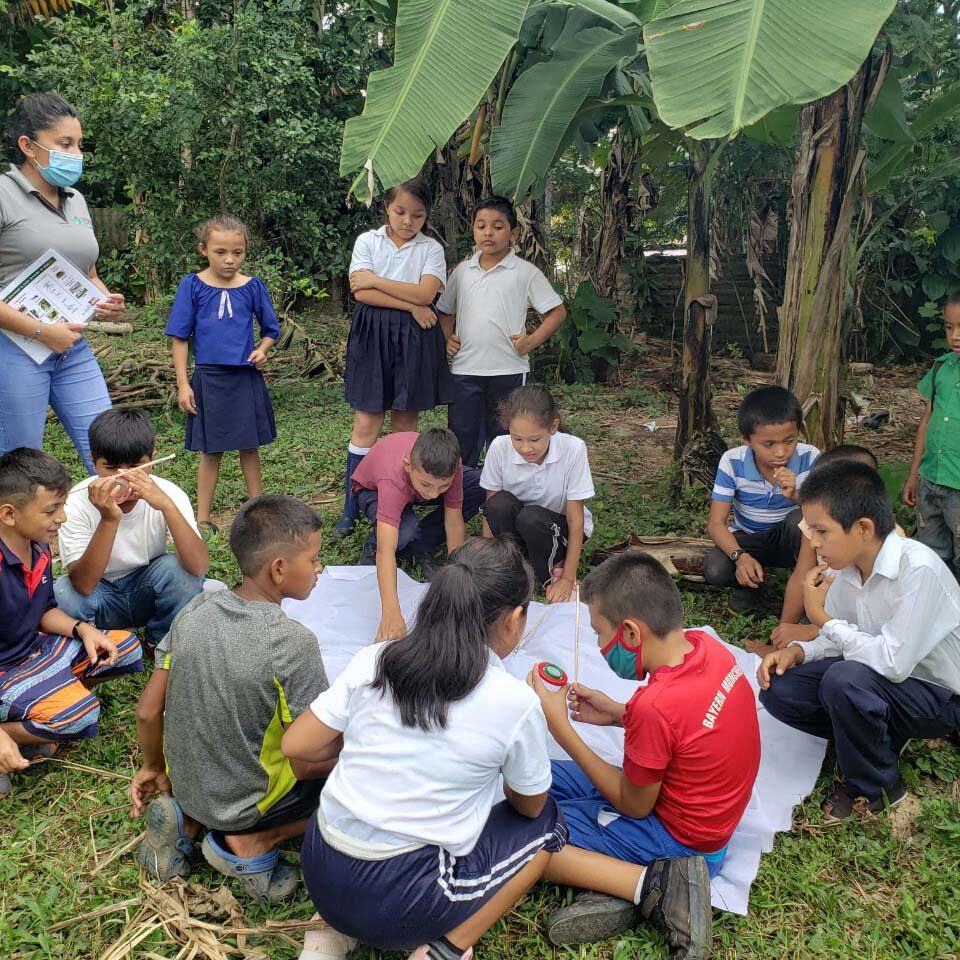
<path id="1" fill-rule="evenodd" d="M 432 410 L 453 399 L 447 344 L 406 310 L 357 304 L 347 340 L 344 395 L 354 410 Z"/>

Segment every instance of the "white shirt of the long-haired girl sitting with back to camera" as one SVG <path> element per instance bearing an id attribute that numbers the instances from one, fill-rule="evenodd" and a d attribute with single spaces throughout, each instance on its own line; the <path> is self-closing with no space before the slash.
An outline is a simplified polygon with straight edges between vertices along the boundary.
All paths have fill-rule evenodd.
<path id="1" fill-rule="evenodd" d="M 501 774 L 527 796 L 550 787 L 540 701 L 491 652 L 477 686 L 450 704 L 445 730 L 404 727 L 389 692 L 370 685 L 386 649 L 365 647 L 310 706 L 343 732 L 318 826 L 331 846 L 364 860 L 428 845 L 463 856 L 490 816 Z"/>

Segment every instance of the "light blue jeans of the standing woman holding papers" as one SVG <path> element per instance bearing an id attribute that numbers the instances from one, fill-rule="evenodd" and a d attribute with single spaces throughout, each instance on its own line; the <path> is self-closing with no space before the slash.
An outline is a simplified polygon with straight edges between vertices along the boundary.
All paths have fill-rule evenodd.
<path id="1" fill-rule="evenodd" d="M 17 447 L 43 449 L 49 404 L 92 474 L 87 432 L 110 409 L 110 394 L 90 344 L 81 340 L 38 365 L 0 334 L 0 370 L 0 454 Z"/>

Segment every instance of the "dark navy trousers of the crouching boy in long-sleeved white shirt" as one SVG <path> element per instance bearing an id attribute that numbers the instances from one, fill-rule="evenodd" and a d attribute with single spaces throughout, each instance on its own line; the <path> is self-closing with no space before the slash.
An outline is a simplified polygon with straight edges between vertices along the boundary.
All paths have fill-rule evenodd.
<path id="1" fill-rule="evenodd" d="M 960 695 L 908 677 L 894 683 L 842 657 L 801 663 L 773 677 L 760 702 L 781 723 L 833 740 L 851 789 L 875 800 L 900 779 L 900 751 L 914 737 L 960 729 Z"/>

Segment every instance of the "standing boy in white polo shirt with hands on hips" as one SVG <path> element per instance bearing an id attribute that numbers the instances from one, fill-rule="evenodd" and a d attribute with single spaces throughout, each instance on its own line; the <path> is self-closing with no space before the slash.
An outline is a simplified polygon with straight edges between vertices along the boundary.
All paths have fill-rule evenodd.
<path id="1" fill-rule="evenodd" d="M 453 271 L 437 301 L 454 382 L 448 423 L 467 467 L 477 466 L 484 445 L 503 435 L 500 401 L 524 384 L 528 355 L 567 316 L 542 271 L 513 252 L 518 233 L 509 200 L 481 200 L 473 214 L 477 252 Z M 528 307 L 542 317 L 532 333 L 526 330 Z"/>

